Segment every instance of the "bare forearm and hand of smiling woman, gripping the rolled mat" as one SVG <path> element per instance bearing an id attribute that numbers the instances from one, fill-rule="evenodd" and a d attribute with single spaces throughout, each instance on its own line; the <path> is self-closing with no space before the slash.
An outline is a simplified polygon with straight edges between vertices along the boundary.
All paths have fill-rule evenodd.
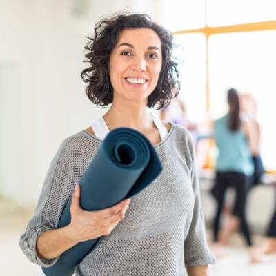
<path id="1" fill-rule="evenodd" d="M 44 232 L 37 239 L 40 259 L 54 259 L 79 242 L 108 235 L 124 219 L 130 199 L 99 211 L 83 210 L 79 204 L 81 189 L 77 184 L 70 206 L 71 221 L 68 226 Z"/>

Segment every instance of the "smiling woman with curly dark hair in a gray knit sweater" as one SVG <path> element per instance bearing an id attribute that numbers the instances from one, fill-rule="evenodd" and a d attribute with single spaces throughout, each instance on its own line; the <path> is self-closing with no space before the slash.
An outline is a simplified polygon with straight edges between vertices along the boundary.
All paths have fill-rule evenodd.
<path id="1" fill-rule="evenodd" d="M 23 252 L 32 262 L 52 266 L 78 242 L 104 235 L 75 268 L 76 275 L 185 275 L 184 266 L 190 276 L 207 275 L 214 258 L 206 244 L 190 136 L 148 112 L 170 102 L 178 81 L 177 64 L 170 56 L 172 34 L 144 14 L 119 13 L 97 23 L 86 50 L 86 94 L 93 103 L 112 106 L 61 144 L 34 217 L 21 236 Z M 77 183 L 102 139 L 118 127 L 134 128 L 148 137 L 164 170 L 131 202 L 84 211 Z M 70 195 L 72 220 L 56 229 Z"/>

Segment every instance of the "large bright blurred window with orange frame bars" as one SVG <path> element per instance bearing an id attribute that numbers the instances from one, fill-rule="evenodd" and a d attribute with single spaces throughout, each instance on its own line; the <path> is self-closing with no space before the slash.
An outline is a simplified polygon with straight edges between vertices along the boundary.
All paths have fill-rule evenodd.
<path id="1" fill-rule="evenodd" d="M 177 31 L 175 42 L 180 46 L 174 55 L 184 61 L 180 67 L 180 97 L 186 103 L 188 118 L 201 123 L 208 115 L 216 119 L 225 114 L 226 91 L 230 87 L 250 93 L 257 101 L 264 166 L 273 171 L 275 10 L 275 0 L 163 0 L 160 16 L 162 25 Z"/>

